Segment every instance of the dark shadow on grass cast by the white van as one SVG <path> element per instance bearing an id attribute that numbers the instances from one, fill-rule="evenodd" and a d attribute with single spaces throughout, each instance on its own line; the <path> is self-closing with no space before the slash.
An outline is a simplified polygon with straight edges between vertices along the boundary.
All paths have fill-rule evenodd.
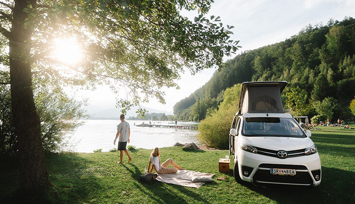
<path id="1" fill-rule="evenodd" d="M 243 186 L 278 203 L 355 203 L 355 172 L 322 167 L 322 181 L 317 187 L 288 185 Z"/>

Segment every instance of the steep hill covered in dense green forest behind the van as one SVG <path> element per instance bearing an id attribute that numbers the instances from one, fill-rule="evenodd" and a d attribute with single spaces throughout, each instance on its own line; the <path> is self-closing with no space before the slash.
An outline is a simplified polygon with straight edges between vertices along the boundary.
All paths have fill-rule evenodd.
<path id="1" fill-rule="evenodd" d="M 347 108 L 355 95 L 355 19 L 330 20 L 327 25 L 308 26 L 283 42 L 246 51 L 227 61 L 209 82 L 177 102 L 177 119 L 201 120 L 223 100 L 223 91 L 246 81 L 279 81 L 306 91 L 307 103 L 333 98 L 338 114 L 351 117 Z M 310 108 L 310 117 L 317 115 Z"/>

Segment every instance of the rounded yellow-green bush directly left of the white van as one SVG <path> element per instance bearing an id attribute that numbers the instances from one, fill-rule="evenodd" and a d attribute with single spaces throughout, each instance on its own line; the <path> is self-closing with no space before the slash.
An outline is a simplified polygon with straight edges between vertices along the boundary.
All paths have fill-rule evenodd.
<path id="1" fill-rule="evenodd" d="M 208 147 L 228 149 L 231 121 L 238 111 L 242 85 L 237 84 L 224 92 L 224 100 L 206 119 L 198 124 L 199 140 Z"/>

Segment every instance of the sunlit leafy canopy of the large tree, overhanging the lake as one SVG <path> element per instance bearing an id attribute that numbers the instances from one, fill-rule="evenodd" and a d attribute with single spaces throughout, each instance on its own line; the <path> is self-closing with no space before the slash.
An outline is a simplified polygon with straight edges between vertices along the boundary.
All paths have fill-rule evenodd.
<path id="1" fill-rule="evenodd" d="M 177 86 L 183 68 L 195 73 L 224 66 L 223 56 L 237 50 L 229 40 L 233 27 L 205 17 L 211 0 L 37 0 L 26 8 L 31 26 L 34 80 L 52 86 L 108 84 L 126 108 L 156 97 L 162 86 Z M 1 63 L 8 66 L 13 1 L 1 4 Z M 179 9 L 198 9 L 194 21 Z M 71 40 L 81 52 L 76 64 L 60 61 L 58 43 Z M 6 71 L 5 71 L 6 72 Z M 50 80 L 48 80 L 50 79 Z M 125 88 L 125 90 L 122 89 Z M 121 89 L 119 89 L 121 88 Z"/>

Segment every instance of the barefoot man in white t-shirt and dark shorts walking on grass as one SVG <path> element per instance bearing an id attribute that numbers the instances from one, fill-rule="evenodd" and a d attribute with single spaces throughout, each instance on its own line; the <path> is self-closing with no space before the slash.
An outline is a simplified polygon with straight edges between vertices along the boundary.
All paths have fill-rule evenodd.
<path id="1" fill-rule="evenodd" d="M 117 125 L 116 138 L 113 140 L 113 144 L 116 145 L 117 137 L 119 137 L 117 150 L 119 150 L 121 153 L 121 161 L 117 162 L 118 164 L 122 164 L 123 152 L 125 152 L 128 156 L 128 163 L 132 160 L 132 157 L 129 155 L 128 150 L 126 149 L 127 142 L 129 143 L 129 136 L 131 134 L 129 123 L 124 121 L 124 114 L 121 114 L 120 120 L 121 123 Z"/>

